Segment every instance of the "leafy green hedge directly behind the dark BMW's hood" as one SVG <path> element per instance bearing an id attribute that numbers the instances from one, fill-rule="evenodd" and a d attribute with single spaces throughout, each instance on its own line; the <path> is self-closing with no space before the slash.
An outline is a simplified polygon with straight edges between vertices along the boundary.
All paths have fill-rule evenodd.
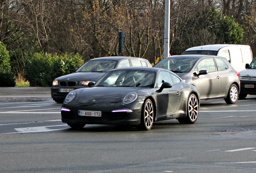
<path id="1" fill-rule="evenodd" d="M 52 81 L 62 75 L 74 72 L 83 60 L 79 54 L 58 56 L 57 54 L 33 54 L 25 61 L 26 79 L 30 86 L 51 86 Z"/>

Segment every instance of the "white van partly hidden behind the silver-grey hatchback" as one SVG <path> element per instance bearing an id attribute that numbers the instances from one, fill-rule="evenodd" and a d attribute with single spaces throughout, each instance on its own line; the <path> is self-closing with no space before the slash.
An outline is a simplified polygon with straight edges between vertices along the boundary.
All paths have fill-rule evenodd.
<path id="1" fill-rule="evenodd" d="M 248 45 L 239 44 L 211 44 L 188 48 L 183 54 L 216 55 L 227 58 L 231 66 L 240 72 L 246 64 L 252 62 L 252 50 Z"/>

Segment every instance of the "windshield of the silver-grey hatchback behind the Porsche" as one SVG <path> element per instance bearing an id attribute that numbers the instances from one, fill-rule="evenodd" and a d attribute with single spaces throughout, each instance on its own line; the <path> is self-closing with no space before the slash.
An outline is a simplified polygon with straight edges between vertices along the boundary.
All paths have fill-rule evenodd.
<path id="1" fill-rule="evenodd" d="M 165 58 L 154 67 L 164 68 L 175 73 L 184 73 L 189 72 L 197 60 L 197 58 Z"/>

